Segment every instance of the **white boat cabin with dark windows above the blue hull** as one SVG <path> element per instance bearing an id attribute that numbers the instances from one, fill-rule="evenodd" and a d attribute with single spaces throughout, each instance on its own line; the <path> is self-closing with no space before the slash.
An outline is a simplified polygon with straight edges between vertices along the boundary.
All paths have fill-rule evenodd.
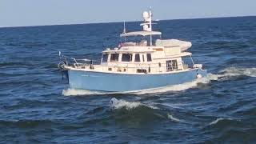
<path id="1" fill-rule="evenodd" d="M 189 68 L 182 57 L 190 57 L 191 54 L 182 52 L 181 46 L 162 45 L 161 39 L 152 42 L 152 35 L 161 35 L 161 32 L 138 31 L 121 34 L 121 37 L 138 35 L 143 36 L 140 42 L 123 42 L 117 48 L 104 50 L 101 65 L 106 66 L 107 71 L 144 74 Z M 150 37 L 150 40 L 146 37 Z"/>

